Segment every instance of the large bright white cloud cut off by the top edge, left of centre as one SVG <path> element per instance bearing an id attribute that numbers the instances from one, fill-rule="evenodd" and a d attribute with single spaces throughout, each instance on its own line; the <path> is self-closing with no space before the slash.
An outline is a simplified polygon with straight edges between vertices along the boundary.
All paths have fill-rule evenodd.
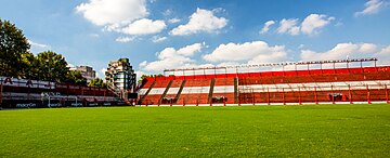
<path id="1" fill-rule="evenodd" d="M 99 26 L 129 24 L 148 15 L 145 0 L 89 0 L 76 12 Z"/>

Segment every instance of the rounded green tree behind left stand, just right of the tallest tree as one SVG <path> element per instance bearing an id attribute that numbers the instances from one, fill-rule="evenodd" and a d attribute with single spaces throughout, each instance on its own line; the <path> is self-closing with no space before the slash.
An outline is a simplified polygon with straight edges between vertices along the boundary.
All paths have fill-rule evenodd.
<path id="1" fill-rule="evenodd" d="M 37 56 L 39 79 L 47 81 L 64 82 L 67 80 L 69 68 L 65 57 L 52 51 L 41 52 Z"/>

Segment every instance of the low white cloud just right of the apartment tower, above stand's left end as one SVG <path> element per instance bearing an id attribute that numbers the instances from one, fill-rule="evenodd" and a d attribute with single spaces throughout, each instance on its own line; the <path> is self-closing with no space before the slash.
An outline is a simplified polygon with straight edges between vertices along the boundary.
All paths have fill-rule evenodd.
<path id="1" fill-rule="evenodd" d="M 194 43 L 179 50 L 166 48 L 156 54 L 157 61 L 144 61 L 140 64 L 140 68 L 145 71 L 161 71 L 166 68 L 192 67 L 196 61 L 191 57 L 195 53 L 200 52 L 204 47 L 205 44 L 203 43 Z"/>

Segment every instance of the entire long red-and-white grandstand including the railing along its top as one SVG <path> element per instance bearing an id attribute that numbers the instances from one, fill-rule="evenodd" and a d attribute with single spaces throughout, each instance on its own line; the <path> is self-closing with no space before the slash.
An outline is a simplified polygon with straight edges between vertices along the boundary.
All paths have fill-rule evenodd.
<path id="1" fill-rule="evenodd" d="M 142 81 L 138 87 L 138 104 L 389 103 L 390 66 L 377 66 L 376 63 L 377 58 L 359 58 L 166 69 L 162 77 L 148 77 Z"/>

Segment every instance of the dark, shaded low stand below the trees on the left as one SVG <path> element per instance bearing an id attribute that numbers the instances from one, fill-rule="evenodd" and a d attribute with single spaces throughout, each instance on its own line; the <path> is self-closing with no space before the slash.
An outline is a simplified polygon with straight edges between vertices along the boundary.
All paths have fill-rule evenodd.
<path id="1" fill-rule="evenodd" d="M 0 104 L 15 107 L 125 105 L 109 89 L 0 77 Z"/>

